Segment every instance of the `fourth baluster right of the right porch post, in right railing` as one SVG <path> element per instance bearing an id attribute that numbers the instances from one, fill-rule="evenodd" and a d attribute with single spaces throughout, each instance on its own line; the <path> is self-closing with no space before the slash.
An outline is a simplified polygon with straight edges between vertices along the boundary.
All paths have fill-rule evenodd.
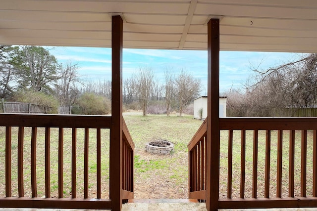
<path id="1" fill-rule="evenodd" d="M 271 157 L 271 130 L 266 130 L 265 136 L 265 183 L 264 197 L 269 198 L 269 173 L 270 173 L 270 157 Z"/>

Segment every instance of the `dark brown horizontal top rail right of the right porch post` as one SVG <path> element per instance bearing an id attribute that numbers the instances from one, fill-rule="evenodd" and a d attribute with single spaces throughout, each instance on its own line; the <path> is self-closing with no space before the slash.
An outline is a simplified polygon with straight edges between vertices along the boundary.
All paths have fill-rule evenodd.
<path id="1" fill-rule="evenodd" d="M 220 118 L 220 129 L 308 130 L 317 129 L 317 117 L 248 117 Z"/>

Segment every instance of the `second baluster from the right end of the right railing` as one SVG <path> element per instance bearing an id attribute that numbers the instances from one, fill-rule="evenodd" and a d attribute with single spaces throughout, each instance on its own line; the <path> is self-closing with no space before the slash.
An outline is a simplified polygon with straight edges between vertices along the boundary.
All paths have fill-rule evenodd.
<path id="1" fill-rule="evenodd" d="M 302 130 L 301 197 L 306 197 L 307 130 Z"/>

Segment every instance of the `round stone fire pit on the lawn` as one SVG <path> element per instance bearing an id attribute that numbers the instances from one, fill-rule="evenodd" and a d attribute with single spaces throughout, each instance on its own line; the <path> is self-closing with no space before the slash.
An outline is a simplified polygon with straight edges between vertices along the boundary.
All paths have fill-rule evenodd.
<path id="1" fill-rule="evenodd" d="M 156 140 L 146 143 L 145 151 L 151 154 L 166 155 L 174 149 L 174 144 L 166 140 Z"/>

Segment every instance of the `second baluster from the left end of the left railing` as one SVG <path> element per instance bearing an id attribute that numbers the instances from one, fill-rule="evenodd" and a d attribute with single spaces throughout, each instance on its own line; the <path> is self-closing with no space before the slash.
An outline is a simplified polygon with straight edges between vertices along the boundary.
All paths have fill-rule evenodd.
<path id="1" fill-rule="evenodd" d="M 24 127 L 19 127 L 18 133 L 18 192 L 19 197 L 24 197 L 24 182 L 23 182 L 23 140 Z"/>

